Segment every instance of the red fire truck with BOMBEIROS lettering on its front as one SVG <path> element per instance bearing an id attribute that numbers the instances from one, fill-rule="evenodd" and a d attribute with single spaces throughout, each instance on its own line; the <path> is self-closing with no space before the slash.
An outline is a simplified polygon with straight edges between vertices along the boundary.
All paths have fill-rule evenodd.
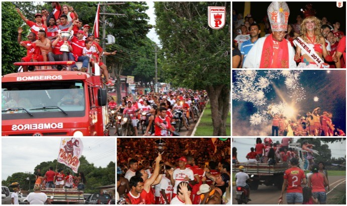
<path id="1" fill-rule="evenodd" d="M 2 76 L 2 136 L 108 135 L 107 88 L 99 66 L 93 75 L 58 70 L 74 63 L 17 62 L 36 69 Z"/>

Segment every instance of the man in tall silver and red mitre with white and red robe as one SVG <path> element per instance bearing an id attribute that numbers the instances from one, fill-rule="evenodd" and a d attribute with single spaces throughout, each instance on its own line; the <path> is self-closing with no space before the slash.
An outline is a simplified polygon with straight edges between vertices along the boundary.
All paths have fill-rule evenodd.
<path id="1" fill-rule="evenodd" d="M 289 19 L 287 3 L 271 3 L 268 15 L 272 35 L 258 39 L 250 49 L 243 68 L 296 68 L 294 49 L 284 38 Z"/>

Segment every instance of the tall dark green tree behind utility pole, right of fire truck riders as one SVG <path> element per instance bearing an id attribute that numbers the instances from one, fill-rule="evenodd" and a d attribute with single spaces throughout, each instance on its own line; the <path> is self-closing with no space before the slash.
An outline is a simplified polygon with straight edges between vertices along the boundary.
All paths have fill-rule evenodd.
<path id="1" fill-rule="evenodd" d="M 139 56 L 138 48 L 145 45 L 144 39 L 151 25 L 145 13 L 148 9 L 145 2 L 126 2 L 124 5 L 111 5 L 107 13 L 125 14 L 125 16 L 107 16 L 107 20 L 115 26 L 106 28 L 106 35 L 115 36 L 115 44 L 109 45 L 107 51 L 118 50 L 115 56 L 108 57 L 106 64 L 112 76 L 116 78 L 117 100 L 121 100 L 120 75 L 132 73 L 132 57 Z"/>

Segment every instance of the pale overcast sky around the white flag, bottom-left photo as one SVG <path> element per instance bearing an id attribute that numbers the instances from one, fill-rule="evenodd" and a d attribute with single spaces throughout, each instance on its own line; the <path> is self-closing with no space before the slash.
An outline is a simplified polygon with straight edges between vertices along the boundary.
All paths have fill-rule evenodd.
<path id="1" fill-rule="evenodd" d="M 89 163 L 106 167 L 116 162 L 115 138 L 82 138 L 83 151 Z M 1 179 L 16 172 L 34 172 L 41 162 L 57 159 L 61 138 L 2 138 Z"/>

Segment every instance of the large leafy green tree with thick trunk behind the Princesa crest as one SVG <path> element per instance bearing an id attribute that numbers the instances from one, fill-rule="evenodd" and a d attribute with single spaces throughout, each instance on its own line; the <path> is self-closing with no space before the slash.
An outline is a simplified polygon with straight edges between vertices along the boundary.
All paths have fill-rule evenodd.
<path id="1" fill-rule="evenodd" d="M 208 26 L 208 6 L 226 7 L 223 29 Z M 230 2 L 156 2 L 163 71 L 173 86 L 206 89 L 213 136 L 226 136 L 230 104 Z"/>

